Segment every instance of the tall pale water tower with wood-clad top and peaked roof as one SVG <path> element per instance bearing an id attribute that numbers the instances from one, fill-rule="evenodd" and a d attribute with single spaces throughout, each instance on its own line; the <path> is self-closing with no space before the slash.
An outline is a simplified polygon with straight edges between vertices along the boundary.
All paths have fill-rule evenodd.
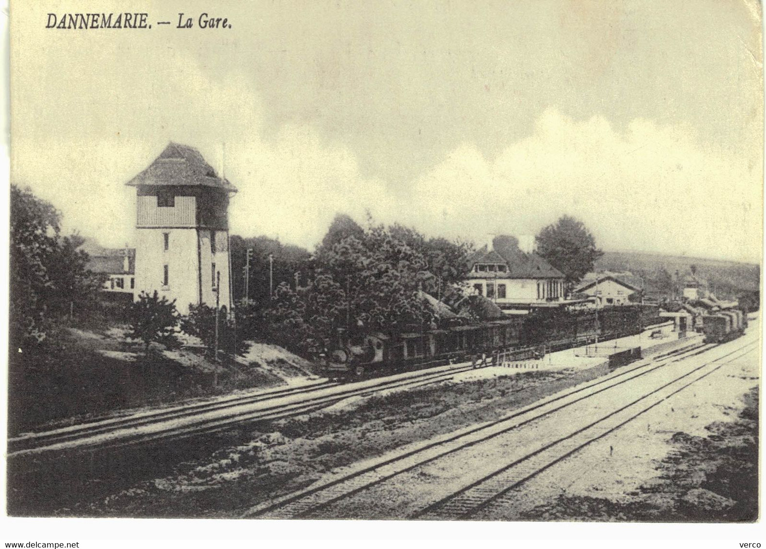
<path id="1" fill-rule="evenodd" d="M 231 310 L 228 205 L 237 189 L 198 150 L 170 143 L 126 183 L 136 187 L 136 294 L 158 291 Z"/>

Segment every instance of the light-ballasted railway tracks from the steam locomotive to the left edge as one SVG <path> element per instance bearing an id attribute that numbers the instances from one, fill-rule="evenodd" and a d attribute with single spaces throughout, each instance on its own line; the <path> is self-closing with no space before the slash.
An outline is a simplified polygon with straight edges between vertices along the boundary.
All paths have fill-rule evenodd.
<path id="1" fill-rule="evenodd" d="M 242 422 L 272 421 L 310 413 L 355 396 L 385 390 L 414 388 L 450 379 L 470 370 L 470 365 L 438 367 L 401 376 L 377 378 L 342 385 L 325 382 L 293 389 L 239 396 L 213 403 L 195 403 L 158 410 L 141 416 L 107 419 L 50 432 L 8 439 L 8 457 L 72 449 L 116 448 L 177 439 L 202 432 L 217 432 Z M 288 399 L 288 402 L 280 402 Z M 253 406 L 256 406 L 253 409 Z"/>

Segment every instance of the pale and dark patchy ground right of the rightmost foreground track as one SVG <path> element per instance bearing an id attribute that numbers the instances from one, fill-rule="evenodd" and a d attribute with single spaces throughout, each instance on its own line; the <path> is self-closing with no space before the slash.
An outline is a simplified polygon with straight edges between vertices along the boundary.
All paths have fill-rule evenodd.
<path id="1" fill-rule="evenodd" d="M 759 371 L 758 353 L 738 359 L 476 519 L 754 521 Z"/>

